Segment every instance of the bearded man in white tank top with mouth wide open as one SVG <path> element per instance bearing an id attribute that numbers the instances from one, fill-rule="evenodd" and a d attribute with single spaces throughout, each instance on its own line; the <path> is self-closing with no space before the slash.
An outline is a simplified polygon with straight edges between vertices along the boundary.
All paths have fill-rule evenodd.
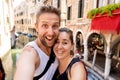
<path id="1" fill-rule="evenodd" d="M 14 80 L 33 80 L 41 74 L 49 60 L 51 48 L 58 36 L 60 11 L 52 6 L 43 6 L 36 15 L 35 28 L 38 37 L 29 42 L 21 53 L 17 63 Z M 57 60 L 39 80 L 51 80 L 58 66 Z"/>

